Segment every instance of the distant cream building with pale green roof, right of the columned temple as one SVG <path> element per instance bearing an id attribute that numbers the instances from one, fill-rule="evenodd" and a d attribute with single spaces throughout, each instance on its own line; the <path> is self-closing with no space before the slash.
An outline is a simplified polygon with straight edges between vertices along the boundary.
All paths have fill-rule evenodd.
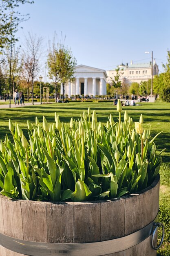
<path id="1" fill-rule="evenodd" d="M 123 68 L 123 71 L 120 71 L 121 74 L 119 80 L 122 83 L 131 84 L 133 82 L 140 83 L 141 81 L 148 81 L 148 79 L 152 78 L 152 63 L 137 63 L 133 64 L 132 61 L 130 65 L 128 63 L 124 65 L 123 63 L 119 65 L 120 70 Z M 106 71 L 108 78 L 107 83 L 111 83 L 111 79 L 114 79 L 114 76 L 116 75 L 115 70 L 108 70 Z M 155 59 L 153 61 L 153 76 L 159 74 L 158 65 L 155 62 Z"/>

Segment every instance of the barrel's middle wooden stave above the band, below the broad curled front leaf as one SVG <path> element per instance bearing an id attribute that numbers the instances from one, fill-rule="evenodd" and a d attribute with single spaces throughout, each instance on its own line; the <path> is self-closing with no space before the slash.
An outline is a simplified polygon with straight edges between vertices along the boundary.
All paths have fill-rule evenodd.
<path id="1" fill-rule="evenodd" d="M 74 202 L 74 243 L 100 241 L 100 202 Z"/>

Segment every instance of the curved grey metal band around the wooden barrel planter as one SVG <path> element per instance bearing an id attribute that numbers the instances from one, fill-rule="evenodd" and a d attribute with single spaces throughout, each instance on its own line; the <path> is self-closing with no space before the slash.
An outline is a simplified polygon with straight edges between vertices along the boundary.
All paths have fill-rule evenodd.
<path id="1" fill-rule="evenodd" d="M 158 214 L 146 227 L 121 238 L 94 243 L 39 243 L 13 238 L 0 233 L 0 245 L 20 254 L 29 256 L 98 256 L 124 251 L 152 235 Z"/>

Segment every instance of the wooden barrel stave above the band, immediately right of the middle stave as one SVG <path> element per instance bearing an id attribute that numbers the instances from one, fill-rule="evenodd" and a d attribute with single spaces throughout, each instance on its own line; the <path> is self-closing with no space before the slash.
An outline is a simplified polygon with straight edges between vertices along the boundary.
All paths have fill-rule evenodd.
<path id="1" fill-rule="evenodd" d="M 125 200 L 101 201 L 101 241 L 124 236 Z"/>

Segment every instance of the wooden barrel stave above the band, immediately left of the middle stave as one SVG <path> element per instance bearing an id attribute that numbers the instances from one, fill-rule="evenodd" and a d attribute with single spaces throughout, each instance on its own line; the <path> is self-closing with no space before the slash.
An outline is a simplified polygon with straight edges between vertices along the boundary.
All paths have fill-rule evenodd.
<path id="1" fill-rule="evenodd" d="M 46 204 L 48 243 L 73 243 L 73 202 Z"/>

